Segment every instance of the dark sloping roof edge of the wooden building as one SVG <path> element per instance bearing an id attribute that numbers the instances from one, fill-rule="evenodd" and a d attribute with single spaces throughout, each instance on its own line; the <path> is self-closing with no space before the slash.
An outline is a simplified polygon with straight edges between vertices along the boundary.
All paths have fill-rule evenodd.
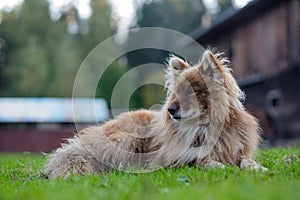
<path id="1" fill-rule="evenodd" d="M 241 9 L 229 8 L 222 12 L 209 28 L 198 28 L 190 36 L 200 44 L 206 44 L 219 35 L 228 33 L 234 28 L 258 18 L 267 11 L 286 3 L 289 0 L 253 0 Z"/>

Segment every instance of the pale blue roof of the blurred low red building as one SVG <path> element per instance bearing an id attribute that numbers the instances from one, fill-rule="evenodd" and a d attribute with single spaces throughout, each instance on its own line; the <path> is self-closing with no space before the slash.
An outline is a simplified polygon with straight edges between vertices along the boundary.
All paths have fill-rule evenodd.
<path id="1" fill-rule="evenodd" d="M 103 122 L 108 117 L 104 99 L 96 98 L 0 98 L 0 122 L 4 123 L 73 123 L 73 101 L 80 109 L 76 122 Z M 94 105 L 94 113 L 86 107 Z"/>

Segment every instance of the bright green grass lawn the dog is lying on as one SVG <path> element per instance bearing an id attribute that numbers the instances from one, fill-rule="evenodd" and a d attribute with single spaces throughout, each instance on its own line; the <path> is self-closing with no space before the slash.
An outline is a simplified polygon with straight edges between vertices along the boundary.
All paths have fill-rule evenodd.
<path id="1" fill-rule="evenodd" d="M 299 148 L 260 151 L 268 172 L 183 167 L 47 180 L 42 155 L 0 154 L 0 199 L 300 199 L 299 156 Z"/>

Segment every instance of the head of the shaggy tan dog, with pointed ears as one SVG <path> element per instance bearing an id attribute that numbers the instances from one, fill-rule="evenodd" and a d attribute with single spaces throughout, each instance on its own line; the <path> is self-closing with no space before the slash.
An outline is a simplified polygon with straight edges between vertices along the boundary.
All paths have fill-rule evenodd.
<path id="1" fill-rule="evenodd" d="M 221 55 L 205 51 L 195 66 L 175 56 L 169 59 L 165 104 L 169 117 L 205 125 L 210 122 L 213 103 L 243 108 L 239 101 L 243 93 Z"/>

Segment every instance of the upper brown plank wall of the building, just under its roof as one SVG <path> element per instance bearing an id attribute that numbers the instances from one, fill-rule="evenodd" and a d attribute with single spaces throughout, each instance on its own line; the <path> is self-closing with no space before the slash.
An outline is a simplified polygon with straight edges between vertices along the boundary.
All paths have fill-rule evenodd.
<path id="1" fill-rule="evenodd" d="M 274 75 L 300 63 L 300 1 L 283 2 L 230 34 L 219 35 L 213 45 L 225 51 L 238 79 Z"/>

